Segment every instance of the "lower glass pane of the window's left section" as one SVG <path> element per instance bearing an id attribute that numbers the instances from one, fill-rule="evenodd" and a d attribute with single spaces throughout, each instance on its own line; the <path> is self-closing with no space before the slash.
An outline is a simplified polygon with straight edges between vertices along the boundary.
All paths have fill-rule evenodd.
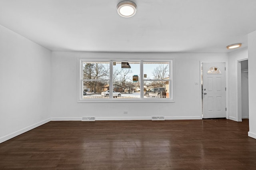
<path id="1" fill-rule="evenodd" d="M 83 81 L 84 99 L 108 99 L 109 81 Z"/>

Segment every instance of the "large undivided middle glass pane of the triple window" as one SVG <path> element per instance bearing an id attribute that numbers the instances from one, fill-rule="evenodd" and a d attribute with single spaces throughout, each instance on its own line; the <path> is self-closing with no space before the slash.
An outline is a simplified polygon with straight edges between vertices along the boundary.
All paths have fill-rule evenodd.
<path id="1" fill-rule="evenodd" d="M 119 99 L 140 98 L 140 62 L 113 62 L 113 90 Z"/>

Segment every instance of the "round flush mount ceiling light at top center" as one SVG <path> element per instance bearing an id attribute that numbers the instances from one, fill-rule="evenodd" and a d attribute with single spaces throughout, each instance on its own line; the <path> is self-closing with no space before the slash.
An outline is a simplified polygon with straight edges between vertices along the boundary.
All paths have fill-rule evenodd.
<path id="1" fill-rule="evenodd" d="M 116 9 L 117 9 L 117 13 L 120 16 L 122 16 L 124 18 L 129 18 L 136 14 L 137 6 L 134 2 L 125 0 L 125 1 L 120 2 L 117 5 Z"/>

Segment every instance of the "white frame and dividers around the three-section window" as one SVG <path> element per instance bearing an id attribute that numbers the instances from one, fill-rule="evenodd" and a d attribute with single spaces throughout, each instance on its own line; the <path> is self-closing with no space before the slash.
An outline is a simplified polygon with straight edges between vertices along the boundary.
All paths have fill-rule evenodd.
<path id="1" fill-rule="evenodd" d="M 109 79 L 100 79 L 100 80 L 96 80 L 96 81 L 109 81 L 109 89 L 113 89 L 113 62 L 115 61 L 122 61 L 122 62 L 129 62 L 129 61 L 136 61 L 136 62 L 140 62 L 140 89 L 144 89 L 144 74 L 143 74 L 143 63 L 144 62 L 169 62 L 170 64 L 170 69 L 169 69 L 169 79 L 164 79 L 163 81 L 169 81 L 169 98 L 144 98 L 144 91 L 140 91 L 140 98 L 138 99 L 118 99 L 118 98 L 113 98 L 112 96 L 112 92 L 110 92 L 110 97 L 109 99 L 84 99 L 83 98 L 83 79 L 82 79 L 82 72 L 83 72 L 83 62 L 110 62 L 110 76 Z M 77 92 L 77 96 L 78 96 L 78 102 L 79 103 L 94 103 L 94 102 L 110 102 L 110 103 L 122 103 L 122 102 L 160 102 L 160 103 L 166 103 L 166 102 L 175 102 L 173 97 L 173 63 L 174 60 L 170 59 L 170 60 L 121 60 L 121 59 L 111 59 L 111 60 L 99 60 L 99 59 L 78 59 L 78 92 Z M 156 79 L 157 81 L 159 81 L 160 79 Z M 150 81 L 156 81 L 155 79 L 150 79 Z"/>

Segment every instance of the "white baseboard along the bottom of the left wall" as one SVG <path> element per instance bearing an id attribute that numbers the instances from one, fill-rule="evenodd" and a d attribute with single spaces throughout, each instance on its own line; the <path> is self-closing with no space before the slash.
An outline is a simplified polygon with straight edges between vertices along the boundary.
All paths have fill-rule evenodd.
<path id="1" fill-rule="evenodd" d="M 51 121 L 51 119 L 46 119 L 44 121 L 35 123 L 34 125 L 28 126 L 26 128 L 20 129 L 20 130 L 17 130 L 16 132 L 13 132 L 11 134 L 7 134 L 6 136 L 3 136 L 3 137 L 0 138 L 0 143 L 5 142 L 6 140 L 9 140 L 11 138 L 14 138 L 15 136 L 18 136 L 18 135 L 20 135 L 22 133 L 25 133 L 25 132 L 29 131 L 29 130 L 32 130 L 33 128 L 39 127 L 41 125 L 44 125 L 45 123 L 48 123 L 50 121 Z"/>

